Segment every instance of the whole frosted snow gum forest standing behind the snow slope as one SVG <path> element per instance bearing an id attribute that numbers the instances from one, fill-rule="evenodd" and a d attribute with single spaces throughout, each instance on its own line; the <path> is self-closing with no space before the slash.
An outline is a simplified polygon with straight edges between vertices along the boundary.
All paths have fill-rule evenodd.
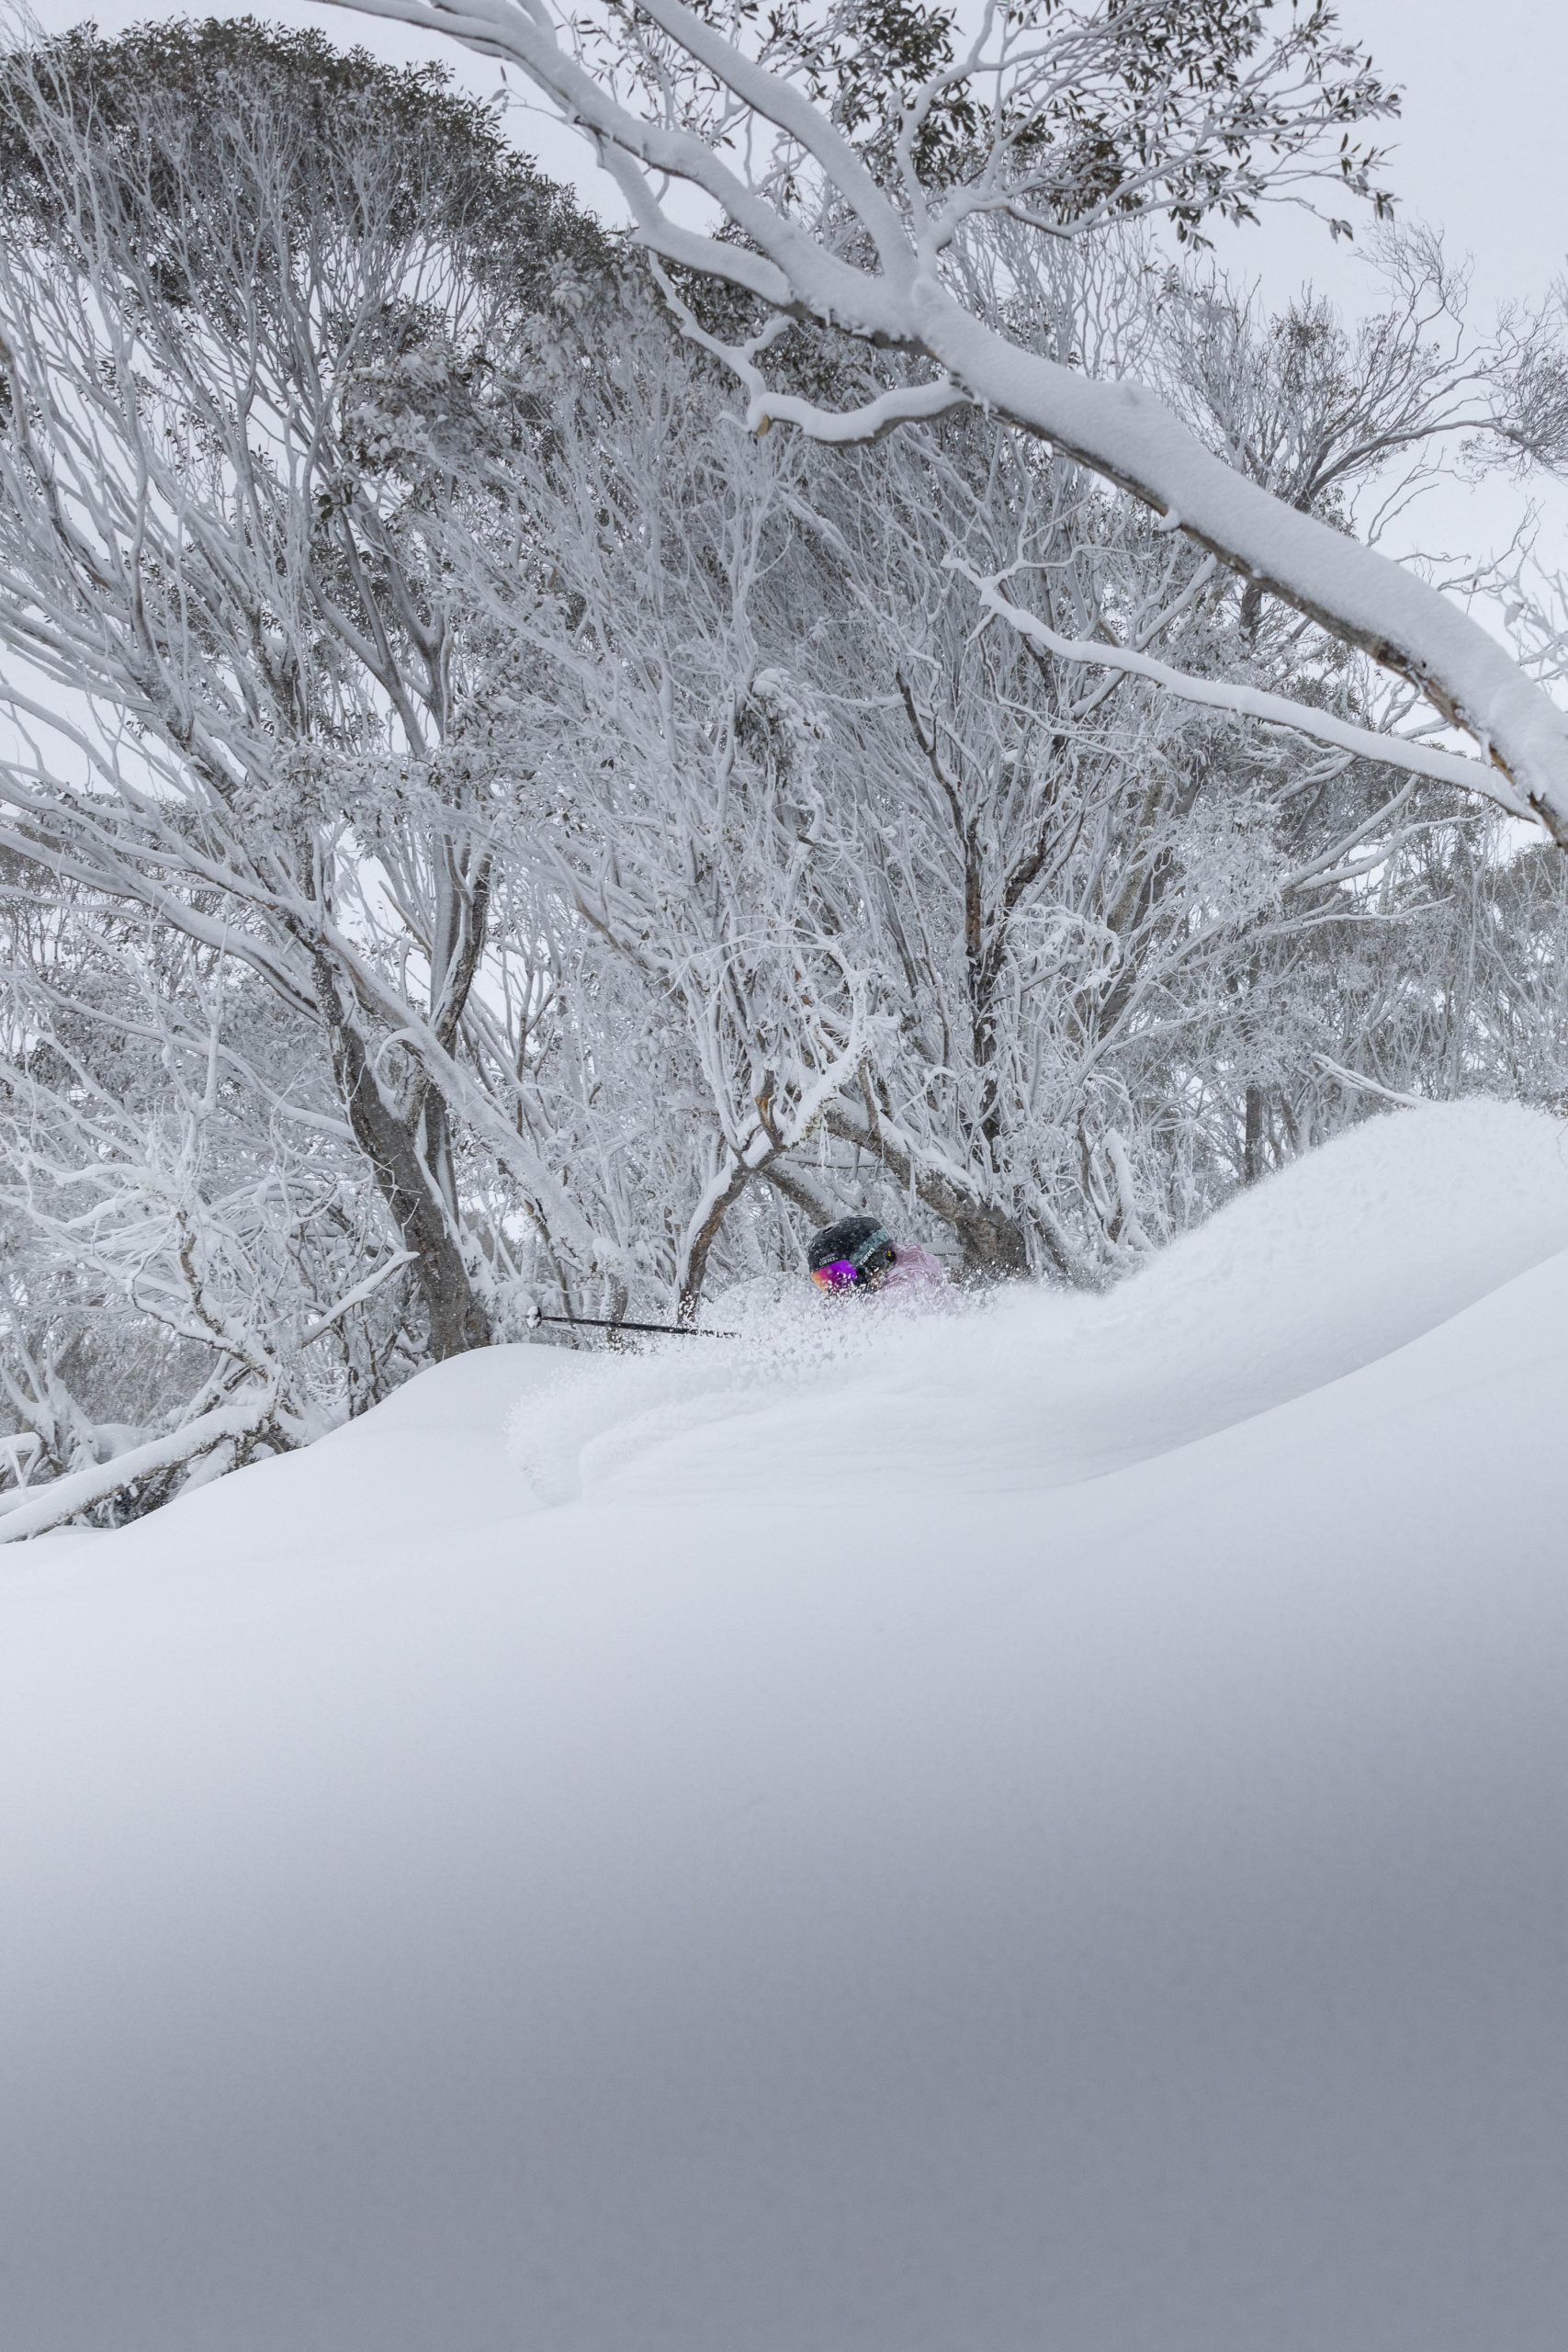
<path id="1" fill-rule="evenodd" d="M 1387 1096 L 1568 1091 L 1554 583 L 1375 553 L 1563 461 L 1547 289 L 1474 315 L 1380 200 L 1321 9 L 987 16 L 994 106 L 940 12 L 748 24 L 733 87 L 679 7 L 534 59 L 738 223 L 630 242 L 317 33 L 7 52 L 28 1524 L 538 1312 L 698 1319 L 851 1207 L 1093 1289 Z M 764 71 L 820 136 L 736 179 Z M 628 160 L 649 108 L 689 153 Z M 1354 212 L 1361 315 L 1220 268 L 1279 195 Z M 940 332 L 856 315 L 922 268 Z"/>

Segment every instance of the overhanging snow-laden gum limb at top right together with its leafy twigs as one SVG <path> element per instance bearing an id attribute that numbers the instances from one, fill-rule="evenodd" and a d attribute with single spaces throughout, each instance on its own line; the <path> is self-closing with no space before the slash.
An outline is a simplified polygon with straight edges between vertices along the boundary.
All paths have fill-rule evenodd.
<path id="1" fill-rule="evenodd" d="M 971 407 L 1039 435 L 1408 680 L 1476 741 L 1481 760 L 1455 771 L 1568 842 L 1568 720 L 1460 604 L 1227 463 L 1150 386 L 1032 348 L 973 299 L 994 221 L 1086 242 L 1154 214 L 1192 238 L 1281 191 L 1375 198 L 1359 134 L 1392 94 L 1331 7 L 987 0 L 969 33 L 943 7 L 889 16 L 870 0 L 343 5 L 522 71 L 595 143 L 646 249 L 748 296 L 745 325 L 710 348 L 755 430 L 790 421 L 844 445 Z M 689 226 L 675 188 L 722 226 Z M 802 322 L 905 360 L 853 407 L 778 388 L 769 355 Z M 1164 684 L 1182 691 L 1178 673 Z M 1298 724 L 1342 741 L 1309 710 Z"/>

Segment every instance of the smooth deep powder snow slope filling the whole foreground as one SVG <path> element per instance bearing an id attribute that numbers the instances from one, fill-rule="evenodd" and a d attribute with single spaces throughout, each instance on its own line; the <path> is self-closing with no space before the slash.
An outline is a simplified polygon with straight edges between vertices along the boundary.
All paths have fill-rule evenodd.
<path id="1" fill-rule="evenodd" d="M 7 2352 L 1559 2352 L 1559 1141 L 0 1555 Z"/>

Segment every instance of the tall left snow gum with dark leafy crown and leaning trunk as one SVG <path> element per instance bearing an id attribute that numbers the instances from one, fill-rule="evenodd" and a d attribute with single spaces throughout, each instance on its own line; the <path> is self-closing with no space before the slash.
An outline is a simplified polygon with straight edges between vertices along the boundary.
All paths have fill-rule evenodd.
<path id="1" fill-rule="evenodd" d="M 313 1030 L 430 1352 L 475 1345 L 451 1096 L 520 1150 L 456 1070 L 489 781 L 421 539 L 444 485 L 374 437 L 388 402 L 475 409 L 487 339 L 592 238 L 430 75 L 247 24 L 14 52 L 0 191 L 0 633 L 38 746 L 5 837 Z"/>

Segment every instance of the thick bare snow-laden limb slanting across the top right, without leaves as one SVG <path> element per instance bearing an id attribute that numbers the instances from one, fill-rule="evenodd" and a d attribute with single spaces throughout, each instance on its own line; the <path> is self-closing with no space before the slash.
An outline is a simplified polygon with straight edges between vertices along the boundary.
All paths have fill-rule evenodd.
<path id="1" fill-rule="evenodd" d="M 969 402 L 1088 466 L 1244 579 L 1406 677 L 1443 720 L 1474 736 L 1512 783 L 1516 804 L 1523 802 L 1568 847 L 1568 717 L 1512 656 L 1415 572 L 1291 508 L 1213 456 L 1145 386 L 1079 374 L 985 325 L 945 275 L 952 223 L 929 209 L 910 176 L 907 153 L 905 205 L 898 207 L 797 82 L 748 56 L 682 0 L 644 0 L 639 16 L 656 26 L 691 73 L 717 85 L 733 118 L 757 125 L 762 146 L 783 136 L 813 160 L 825 188 L 849 207 L 875 247 L 877 266 L 858 268 L 785 212 L 764 172 L 745 176 L 731 167 L 701 129 L 672 122 L 668 106 L 654 118 L 618 99 L 609 73 L 588 71 L 571 52 L 562 38 L 564 19 L 548 0 L 336 5 L 449 33 L 517 66 L 564 120 L 592 139 L 651 252 L 722 278 L 792 318 L 929 358 Z M 1048 35 L 1041 38 L 1048 47 Z M 1084 38 L 1086 28 L 1074 26 L 1077 47 L 1072 56 L 1063 52 L 1063 66 L 1081 54 L 1086 64 L 1074 71 L 1091 71 Z M 1114 26 L 1105 19 L 1105 40 L 1112 38 Z M 623 31 L 621 40 L 635 56 L 637 31 Z M 1006 28 L 999 40 L 1006 47 Z M 976 78 L 1011 71 L 1001 49 L 971 59 L 971 68 Z M 1044 49 L 1030 71 L 1037 78 L 1048 73 Z M 945 80 L 947 68 L 933 87 L 945 87 Z M 907 120 L 919 118 L 922 103 L 929 103 L 926 94 L 910 101 Z M 745 151 L 745 141 L 731 141 L 731 151 L 736 146 Z M 1006 151 L 1009 141 L 999 136 L 987 169 Z M 670 181 L 698 188 L 722 207 L 745 242 L 731 245 L 677 223 L 663 198 Z M 788 414 L 816 437 L 844 435 L 844 421 L 827 409 L 757 395 L 750 355 L 736 358 L 738 372 L 752 379 L 755 426 Z M 947 386 L 943 397 L 950 397 Z"/>

